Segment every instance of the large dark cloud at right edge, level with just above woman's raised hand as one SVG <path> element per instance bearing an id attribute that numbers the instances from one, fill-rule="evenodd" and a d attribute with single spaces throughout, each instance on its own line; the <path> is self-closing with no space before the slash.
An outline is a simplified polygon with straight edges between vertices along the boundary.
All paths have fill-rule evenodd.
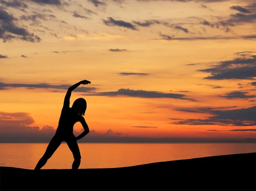
<path id="1" fill-rule="evenodd" d="M 211 73 L 210 76 L 204 77 L 204 79 L 253 79 L 253 77 L 256 77 L 256 55 L 225 60 L 211 68 L 198 71 Z"/>

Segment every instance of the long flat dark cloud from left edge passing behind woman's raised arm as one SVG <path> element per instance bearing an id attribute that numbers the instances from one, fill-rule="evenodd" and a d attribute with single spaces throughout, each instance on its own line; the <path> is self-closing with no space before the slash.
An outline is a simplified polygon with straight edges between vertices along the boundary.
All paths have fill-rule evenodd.
<path id="1" fill-rule="evenodd" d="M 44 88 L 44 89 L 63 89 L 67 90 L 72 85 L 50 85 L 47 83 L 38 83 L 38 84 L 22 84 L 22 83 L 2 83 L 0 82 L 0 90 L 9 89 L 9 88 Z M 93 87 L 78 87 L 73 91 L 76 92 L 90 92 L 95 91 L 97 88 Z"/>

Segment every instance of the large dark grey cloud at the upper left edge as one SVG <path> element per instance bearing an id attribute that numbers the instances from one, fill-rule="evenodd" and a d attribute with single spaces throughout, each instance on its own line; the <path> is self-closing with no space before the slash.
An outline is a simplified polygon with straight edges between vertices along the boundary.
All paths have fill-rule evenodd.
<path id="1" fill-rule="evenodd" d="M 33 33 L 30 33 L 25 28 L 17 26 L 14 21 L 17 18 L 13 17 L 2 8 L 0 8 L 0 38 L 3 42 L 10 41 L 13 39 L 24 40 L 29 42 L 40 42 L 41 38 Z"/>

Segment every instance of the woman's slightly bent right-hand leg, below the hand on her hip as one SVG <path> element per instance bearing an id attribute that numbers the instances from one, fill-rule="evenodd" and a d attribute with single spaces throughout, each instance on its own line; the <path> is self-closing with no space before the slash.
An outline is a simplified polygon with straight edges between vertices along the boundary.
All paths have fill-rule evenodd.
<path id="1" fill-rule="evenodd" d="M 76 137 L 73 136 L 72 138 L 66 140 L 68 147 L 70 148 L 70 151 L 73 154 L 74 162 L 72 165 L 72 169 L 78 169 L 79 165 L 81 163 L 81 154 L 79 151 L 78 144 L 76 142 Z"/>

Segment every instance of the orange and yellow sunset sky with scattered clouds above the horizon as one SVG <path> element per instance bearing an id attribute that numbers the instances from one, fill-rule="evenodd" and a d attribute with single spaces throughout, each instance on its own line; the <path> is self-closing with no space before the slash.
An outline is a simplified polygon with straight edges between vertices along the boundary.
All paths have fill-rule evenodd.
<path id="1" fill-rule="evenodd" d="M 256 141 L 256 0 L 0 0 L 0 142 L 49 141 L 81 80 L 81 141 Z"/>

